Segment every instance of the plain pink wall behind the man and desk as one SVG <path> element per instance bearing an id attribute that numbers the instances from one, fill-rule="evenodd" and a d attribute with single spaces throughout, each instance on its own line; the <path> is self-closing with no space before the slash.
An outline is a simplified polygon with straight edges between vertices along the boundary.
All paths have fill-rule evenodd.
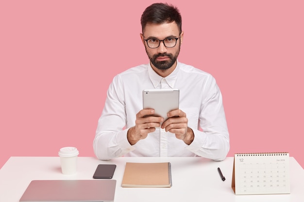
<path id="1" fill-rule="evenodd" d="M 148 63 L 140 16 L 153 2 L 0 1 L 0 167 L 64 146 L 94 156 L 109 83 Z M 304 167 L 304 1 L 168 2 L 183 16 L 179 61 L 220 86 L 228 156 L 289 152 Z"/>

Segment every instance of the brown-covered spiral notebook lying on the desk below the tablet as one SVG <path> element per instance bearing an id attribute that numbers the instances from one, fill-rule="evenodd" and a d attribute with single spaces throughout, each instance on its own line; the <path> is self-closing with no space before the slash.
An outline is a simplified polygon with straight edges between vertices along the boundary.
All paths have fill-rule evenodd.
<path id="1" fill-rule="evenodd" d="M 122 187 L 171 187 L 171 164 L 126 163 Z"/>

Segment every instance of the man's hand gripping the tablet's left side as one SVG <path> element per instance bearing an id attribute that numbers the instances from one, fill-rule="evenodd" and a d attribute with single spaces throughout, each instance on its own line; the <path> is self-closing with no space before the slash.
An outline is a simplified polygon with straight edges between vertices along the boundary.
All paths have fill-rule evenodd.
<path id="1" fill-rule="evenodd" d="M 155 127 L 160 127 L 160 123 L 164 121 L 164 118 L 147 116 L 154 113 L 154 109 L 142 109 L 136 114 L 135 126 L 131 127 L 127 133 L 127 138 L 131 145 L 147 138 L 148 133 L 155 131 Z"/>

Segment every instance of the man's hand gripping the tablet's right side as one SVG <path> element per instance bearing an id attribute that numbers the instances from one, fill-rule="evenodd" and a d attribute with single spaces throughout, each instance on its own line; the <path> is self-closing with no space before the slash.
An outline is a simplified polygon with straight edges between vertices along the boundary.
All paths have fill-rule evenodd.
<path id="1" fill-rule="evenodd" d="M 165 128 L 166 132 L 175 133 L 175 137 L 183 140 L 186 144 L 191 144 L 194 139 L 194 133 L 188 127 L 186 113 L 180 109 L 176 109 L 170 111 L 168 117 L 169 119 L 162 124 L 161 128 Z"/>

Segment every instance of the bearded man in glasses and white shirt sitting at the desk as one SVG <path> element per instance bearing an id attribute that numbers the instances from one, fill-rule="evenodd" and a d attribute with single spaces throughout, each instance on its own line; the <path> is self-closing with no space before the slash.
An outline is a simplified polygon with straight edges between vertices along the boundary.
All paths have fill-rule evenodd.
<path id="1" fill-rule="evenodd" d="M 102 160 L 118 156 L 223 160 L 229 134 L 220 89 L 210 74 L 177 61 L 184 37 L 178 9 L 154 3 L 143 12 L 141 26 L 150 63 L 118 74 L 110 84 L 93 143 L 95 155 Z M 170 111 L 160 125 L 167 117 L 145 116 L 154 110 L 142 109 L 142 91 L 163 88 L 180 90 L 180 109 Z"/>

